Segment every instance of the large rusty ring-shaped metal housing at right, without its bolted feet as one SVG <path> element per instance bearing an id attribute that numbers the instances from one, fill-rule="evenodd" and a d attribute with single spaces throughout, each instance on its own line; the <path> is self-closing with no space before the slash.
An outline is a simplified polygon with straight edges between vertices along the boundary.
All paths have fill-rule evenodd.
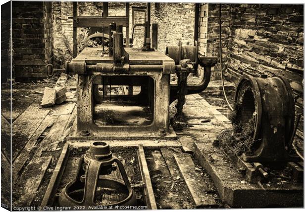
<path id="1" fill-rule="evenodd" d="M 298 157 L 287 150 L 294 130 L 294 98 L 290 85 L 280 76 L 254 78 L 243 76 L 238 84 L 236 102 L 241 104 L 239 121 L 248 125 L 256 118 L 249 162 L 296 161 Z"/>

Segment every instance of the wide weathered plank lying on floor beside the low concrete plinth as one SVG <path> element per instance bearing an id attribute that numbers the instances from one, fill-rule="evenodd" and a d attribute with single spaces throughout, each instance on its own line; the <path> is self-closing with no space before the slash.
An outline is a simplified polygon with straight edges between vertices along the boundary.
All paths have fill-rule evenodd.
<path id="1" fill-rule="evenodd" d="M 212 191 L 205 183 L 201 176 L 195 171 L 195 164 L 189 154 L 175 154 L 174 158 L 179 170 L 184 178 L 188 189 L 193 197 L 197 208 L 216 206 L 216 202 L 212 194 L 206 193 Z"/>

